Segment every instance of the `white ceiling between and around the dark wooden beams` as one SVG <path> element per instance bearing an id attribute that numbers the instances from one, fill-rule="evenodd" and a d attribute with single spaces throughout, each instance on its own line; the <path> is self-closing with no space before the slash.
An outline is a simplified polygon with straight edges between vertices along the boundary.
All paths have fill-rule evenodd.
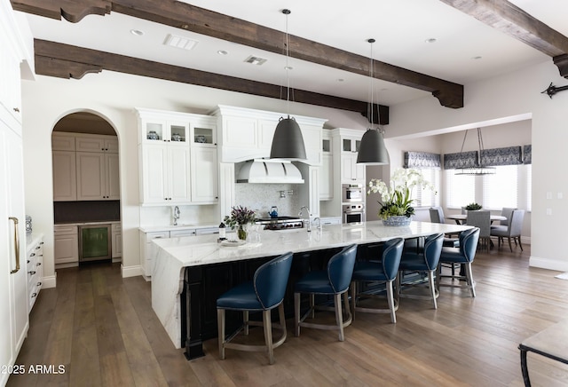
<path id="1" fill-rule="evenodd" d="M 455 10 L 439 0 L 182 0 L 201 8 L 231 15 L 288 33 L 404 67 L 425 75 L 466 85 L 501 75 L 517 68 L 550 59 L 525 43 L 506 36 L 484 23 Z M 533 17 L 568 36 L 568 1 L 510 0 Z M 201 36 L 111 12 L 104 17 L 90 15 L 78 23 L 27 15 L 34 37 L 118 53 L 171 65 L 232 75 L 264 83 L 286 85 L 283 55 Z M 144 32 L 135 36 L 131 29 Z M 185 51 L 163 45 L 169 34 L 198 43 Z M 435 38 L 436 43 L 426 43 Z M 282 34 L 284 43 L 284 34 Z M 223 56 L 217 51 L 227 51 Z M 245 63 L 248 56 L 268 59 L 262 66 Z M 480 59 L 474 59 L 480 57 Z M 290 87 L 348 99 L 368 101 L 369 78 L 343 70 L 323 67 L 300 59 L 289 59 Z M 342 82 L 338 80 L 343 80 Z M 543 85 L 543 89 L 547 85 Z M 395 105 L 428 96 L 395 83 L 374 81 L 375 102 Z"/>

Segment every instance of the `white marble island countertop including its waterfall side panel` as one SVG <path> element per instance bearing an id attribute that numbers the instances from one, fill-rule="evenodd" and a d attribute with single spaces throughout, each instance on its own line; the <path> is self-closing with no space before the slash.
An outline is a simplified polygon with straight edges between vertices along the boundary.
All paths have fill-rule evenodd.
<path id="1" fill-rule="evenodd" d="M 183 290 L 184 268 L 212 265 L 258 257 L 273 257 L 288 251 L 294 253 L 388 241 L 392 238 L 416 238 L 432 233 L 456 233 L 470 228 L 467 225 L 449 225 L 412 222 L 408 226 L 385 226 L 382 221 L 362 225 L 325 225 L 321 231 L 305 228 L 282 231 L 260 231 L 260 242 L 241 246 L 223 246 L 217 235 L 201 235 L 158 239 L 152 276 L 152 306 L 173 344 L 180 348 L 181 316 L 179 295 Z M 228 238 L 233 238 L 229 233 Z"/>

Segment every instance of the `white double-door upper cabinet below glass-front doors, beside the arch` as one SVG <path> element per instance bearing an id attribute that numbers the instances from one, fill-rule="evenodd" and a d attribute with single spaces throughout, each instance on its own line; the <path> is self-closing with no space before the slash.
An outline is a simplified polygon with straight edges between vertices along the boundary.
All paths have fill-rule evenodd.
<path id="1" fill-rule="evenodd" d="M 189 204 L 189 146 L 151 144 L 141 148 L 142 204 Z"/>

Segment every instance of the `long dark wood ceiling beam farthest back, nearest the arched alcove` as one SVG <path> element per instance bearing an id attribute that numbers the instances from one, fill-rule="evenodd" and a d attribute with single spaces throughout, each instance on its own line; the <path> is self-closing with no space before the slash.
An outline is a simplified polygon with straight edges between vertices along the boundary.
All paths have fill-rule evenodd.
<path id="1" fill-rule="evenodd" d="M 34 51 L 36 53 L 36 74 L 38 75 L 81 79 L 85 74 L 108 70 L 226 91 L 243 92 L 273 99 L 286 98 L 285 90 L 283 91 L 280 85 L 171 66 L 151 60 L 131 58 L 63 43 L 36 39 Z M 292 95 L 292 100 L 295 102 L 359 112 L 361 115 L 367 116 L 366 102 L 298 89 L 294 89 Z M 374 122 L 385 125 L 389 123 L 389 107 L 375 105 L 374 111 L 379 112 L 378 116 L 375 114 Z"/>

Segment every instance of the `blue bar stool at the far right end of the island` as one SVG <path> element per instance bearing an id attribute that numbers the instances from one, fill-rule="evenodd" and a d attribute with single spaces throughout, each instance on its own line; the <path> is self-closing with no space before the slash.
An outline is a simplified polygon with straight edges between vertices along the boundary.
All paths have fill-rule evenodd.
<path id="1" fill-rule="evenodd" d="M 442 248 L 438 271 L 436 272 L 437 288 L 469 288 L 471 296 L 476 296 L 475 282 L 473 281 L 473 273 L 471 272 L 471 263 L 476 257 L 477 242 L 479 241 L 479 228 L 473 227 L 460 233 L 459 248 Z M 442 264 L 461 264 L 464 266 L 464 272 L 460 274 L 442 274 Z M 442 283 L 443 278 L 452 280 L 466 280 L 466 285 L 456 285 L 454 283 Z"/>

